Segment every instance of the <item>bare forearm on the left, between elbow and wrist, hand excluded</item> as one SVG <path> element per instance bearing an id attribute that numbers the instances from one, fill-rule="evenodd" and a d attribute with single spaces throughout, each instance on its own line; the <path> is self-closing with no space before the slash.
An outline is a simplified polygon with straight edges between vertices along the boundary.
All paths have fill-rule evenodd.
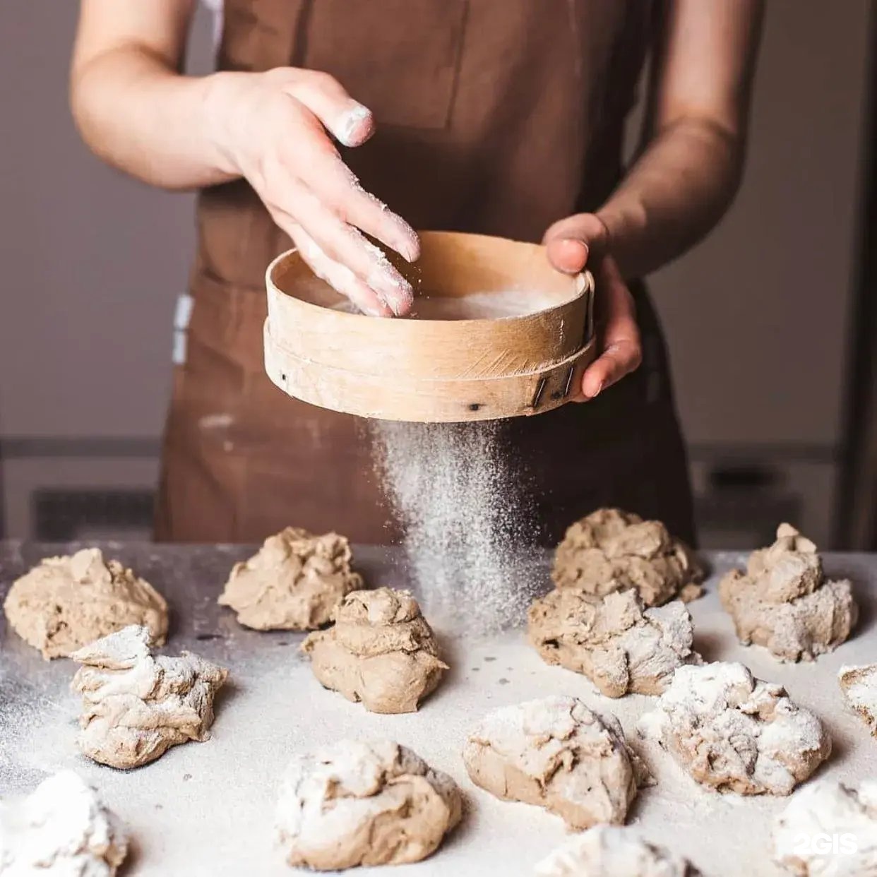
<path id="1" fill-rule="evenodd" d="M 153 186 L 225 182 L 232 169 L 210 124 L 222 76 L 183 76 L 146 47 L 112 48 L 74 68 L 76 125 L 101 159 Z"/>

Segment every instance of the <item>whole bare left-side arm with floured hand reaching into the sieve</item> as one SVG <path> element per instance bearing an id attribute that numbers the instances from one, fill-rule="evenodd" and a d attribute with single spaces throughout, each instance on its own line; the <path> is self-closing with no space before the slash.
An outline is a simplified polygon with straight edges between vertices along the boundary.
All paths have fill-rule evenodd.
<path id="1" fill-rule="evenodd" d="M 315 70 L 179 75 L 194 8 L 82 0 L 70 92 L 83 138 L 168 189 L 244 177 L 327 282 L 369 314 L 406 313 L 410 283 L 384 251 L 417 260 L 417 234 L 360 186 L 339 151 L 372 136 L 371 111 Z"/>

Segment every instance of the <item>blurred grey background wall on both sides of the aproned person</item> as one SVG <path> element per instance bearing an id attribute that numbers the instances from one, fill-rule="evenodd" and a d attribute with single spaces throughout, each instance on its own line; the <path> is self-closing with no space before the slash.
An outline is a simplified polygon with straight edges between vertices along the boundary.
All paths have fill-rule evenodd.
<path id="1" fill-rule="evenodd" d="M 0 5 L 0 441 L 18 533 L 34 488 L 152 483 L 193 240 L 191 196 L 126 180 L 76 137 L 76 5 Z M 871 7 L 769 0 L 744 188 L 717 232 L 652 281 L 708 541 L 753 538 L 711 501 L 710 474 L 729 461 L 773 471 L 771 502 L 788 500 L 818 538 L 830 530 Z M 210 63 L 206 16 L 190 58 Z"/>

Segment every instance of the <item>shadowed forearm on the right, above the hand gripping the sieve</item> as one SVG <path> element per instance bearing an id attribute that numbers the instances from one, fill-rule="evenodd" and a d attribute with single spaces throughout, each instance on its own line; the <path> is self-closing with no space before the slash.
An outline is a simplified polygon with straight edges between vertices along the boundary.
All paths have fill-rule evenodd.
<path id="1" fill-rule="evenodd" d="M 674 260 L 713 228 L 737 192 L 743 144 L 720 125 L 681 118 L 646 147 L 597 210 L 625 277 Z"/>

